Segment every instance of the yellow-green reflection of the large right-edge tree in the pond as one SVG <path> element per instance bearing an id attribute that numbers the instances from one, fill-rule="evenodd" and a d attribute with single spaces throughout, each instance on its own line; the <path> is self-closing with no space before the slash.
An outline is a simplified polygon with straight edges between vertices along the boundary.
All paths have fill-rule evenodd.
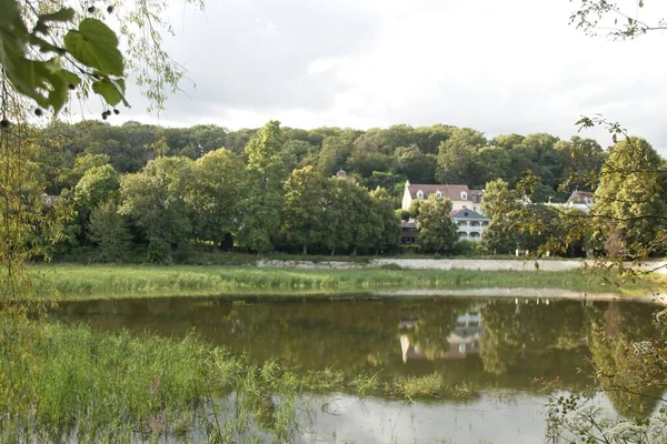
<path id="1" fill-rule="evenodd" d="M 610 303 L 590 313 L 589 349 L 614 407 L 626 417 L 650 414 L 667 389 L 665 326 L 651 306 Z"/>

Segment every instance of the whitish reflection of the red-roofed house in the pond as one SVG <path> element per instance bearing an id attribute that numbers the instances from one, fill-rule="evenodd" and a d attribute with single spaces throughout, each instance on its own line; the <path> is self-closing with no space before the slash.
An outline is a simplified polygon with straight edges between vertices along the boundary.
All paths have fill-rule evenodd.
<path id="1" fill-rule="evenodd" d="M 401 330 L 412 330 L 417 321 L 404 321 L 399 324 Z M 447 336 L 448 346 L 437 353 L 427 355 L 419 343 L 410 343 L 408 334 L 400 335 L 400 350 L 404 362 L 415 360 L 458 360 L 468 354 L 479 353 L 479 337 L 481 331 L 481 315 L 479 313 L 466 313 L 456 321 L 456 327 Z"/>

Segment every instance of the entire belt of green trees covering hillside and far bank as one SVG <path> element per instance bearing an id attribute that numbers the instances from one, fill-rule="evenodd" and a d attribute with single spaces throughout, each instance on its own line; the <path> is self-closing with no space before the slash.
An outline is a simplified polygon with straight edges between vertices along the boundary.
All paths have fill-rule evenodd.
<path id="1" fill-rule="evenodd" d="M 118 261 L 139 250 L 143 260 L 171 263 L 192 246 L 260 255 L 275 250 L 508 253 L 535 250 L 565 235 L 573 239 L 563 253 L 580 255 L 585 249 L 608 250 L 608 238 L 657 230 L 601 223 L 597 234 L 584 233 L 573 214 L 539 204 L 563 202 L 575 189 L 597 186 L 614 149 L 579 137 L 487 139 L 442 124 L 300 130 L 271 121 L 261 129 L 228 131 L 84 121 L 52 123 L 36 130 L 32 139 L 36 183 L 43 184 L 39 192 L 46 211 L 69 214 L 66 235 L 44 250 L 56 259 Z M 633 140 L 625 145 L 634 152 Z M 644 143 L 651 162 L 661 162 Z M 609 182 L 613 175 L 606 178 Z M 638 180 L 653 186 L 654 179 Z M 439 216 L 451 211 L 447 200 L 400 211 L 406 180 L 486 188 L 482 206 L 491 224 L 482 242 L 458 240 L 454 222 Z M 607 189 L 615 193 L 616 185 L 609 182 Z M 535 205 L 519 203 L 525 194 Z M 616 210 L 607 200 L 603 210 L 611 216 Z M 661 212 L 665 204 L 660 200 L 651 208 Z M 625 210 L 619 211 L 623 216 Z M 419 245 L 399 248 L 398 222 L 408 218 L 417 219 Z"/>

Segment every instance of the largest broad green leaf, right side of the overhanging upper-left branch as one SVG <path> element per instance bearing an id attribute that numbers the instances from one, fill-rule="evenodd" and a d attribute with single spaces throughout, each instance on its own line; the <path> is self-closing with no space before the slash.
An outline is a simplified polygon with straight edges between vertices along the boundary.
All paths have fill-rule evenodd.
<path id="1" fill-rule="evenodd" d="M 69 30 L 64 36 L 64 48 L 74 59 L 106 75 L 123 74 L 125 63 L 118 50 L 118 37 L 98 19 L 83 19 L 78 30 Z"/>

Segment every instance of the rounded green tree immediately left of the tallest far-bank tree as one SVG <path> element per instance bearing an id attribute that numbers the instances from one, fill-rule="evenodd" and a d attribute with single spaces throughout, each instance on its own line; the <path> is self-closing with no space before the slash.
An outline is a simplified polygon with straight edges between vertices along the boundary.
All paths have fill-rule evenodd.
<path id="1" fill-rule="evenodd" d="M 210 151 L 192 164 L 195 183 L 188 198 L 192 208 L 195 238 L 220 248 L 226 236 L 236 233 L 245 196 L 243 163 L 221 148 Z"/>

